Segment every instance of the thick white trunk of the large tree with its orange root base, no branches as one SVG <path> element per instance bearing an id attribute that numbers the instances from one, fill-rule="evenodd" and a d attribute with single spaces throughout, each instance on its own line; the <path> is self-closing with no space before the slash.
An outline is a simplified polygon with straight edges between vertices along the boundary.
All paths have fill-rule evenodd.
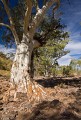
<path id="1" fill-rule="evenodd" d="M 23 37 L 21 44 L 17 46 L 15 59 L 11 69 L 10 82 L 11 85 L 15 87 L 14 99 L 16 99 L 16 93 L 18 92 L 27 93 L 29 101 L 33 99 L 39 101 L 45 96 L 43 87 L 38 85 L 32 79 L 30 68 L 32 51 L 32 41 L 26 36 Z"/>

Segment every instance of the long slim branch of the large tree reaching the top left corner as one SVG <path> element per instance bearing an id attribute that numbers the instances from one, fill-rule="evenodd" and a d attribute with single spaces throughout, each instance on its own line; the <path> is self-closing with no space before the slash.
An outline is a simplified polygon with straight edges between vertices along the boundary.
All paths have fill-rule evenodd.
<path id="1" fill-rule="evenodd" d="M 16 42 L 16 44 L 19 44 L 19 38 L 18 38 L 18 35 L 17 35 L 17 33 L 16 33 L 16 29 L 15 29 L 15 27 L 14 27 L 14 22 L 13 22 L 13 19 L 12 19 L 12 17 L 11 17 L 11 14 L 10 14 L 9 7 L 8 7 L 8 5 L 6 4 L 5 0 L 1 0 L 1 1 L 2 1 L 3 5 L 4 5 L 4 8 L 5 8 L 5 10 L 6 10 L 6 13 L 7 13 L 7 15 L 8 15 L 8 18 L 9 18 L 9 21 L 10 21 L 11 31 L 12 31 L 12 33 L 13 33 L 15 42 Z"/>

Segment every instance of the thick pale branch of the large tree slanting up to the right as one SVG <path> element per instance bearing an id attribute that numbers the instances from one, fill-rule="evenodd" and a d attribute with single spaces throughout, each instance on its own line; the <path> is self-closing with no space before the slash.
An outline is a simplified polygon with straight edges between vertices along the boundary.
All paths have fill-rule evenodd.
<path id="1" fill-rule="evenodd" d="M 43 20 L 43 16 L 46 13 L 46 11 L 54 4 L 57 3 L 56 7 L 54 10 L 56 10 L 59 5 L 60 5 L 60 0 L 50 0 L 42 7 L 42 9 L 39 9 L 36 16 L 34 17 L 32 23 L 31 23 L 31 28 L 30 31 L 34 34 L 35 29 L 38 27 L 40 22 Z"/>

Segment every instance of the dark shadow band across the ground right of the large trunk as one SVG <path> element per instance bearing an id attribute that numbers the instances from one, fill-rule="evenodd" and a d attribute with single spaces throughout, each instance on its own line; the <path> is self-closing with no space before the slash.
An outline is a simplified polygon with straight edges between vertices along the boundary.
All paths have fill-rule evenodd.
<path id="1" fill-rule="evenodd" d="M 38 79 L 36 82 L 43 87 L 54 87 L 60 84 L 79 87 L 81 86 L 81 77 L 79 78 L 63 78 L 63 77 L 52 77 L 52 78 L 46 78 L 46 79 Z"/>

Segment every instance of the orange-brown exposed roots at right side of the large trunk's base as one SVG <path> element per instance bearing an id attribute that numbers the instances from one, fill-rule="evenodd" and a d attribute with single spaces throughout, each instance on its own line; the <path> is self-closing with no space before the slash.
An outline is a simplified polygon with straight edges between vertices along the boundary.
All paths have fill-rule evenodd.
<path id="1" fill-rule="evenodd" d="M 47 93 L 41 85 L 38 85 L 36 82 L 29 81 L 27 97 L 29 102 L 41 102 L 41 100 L 45 100 Z"/>

